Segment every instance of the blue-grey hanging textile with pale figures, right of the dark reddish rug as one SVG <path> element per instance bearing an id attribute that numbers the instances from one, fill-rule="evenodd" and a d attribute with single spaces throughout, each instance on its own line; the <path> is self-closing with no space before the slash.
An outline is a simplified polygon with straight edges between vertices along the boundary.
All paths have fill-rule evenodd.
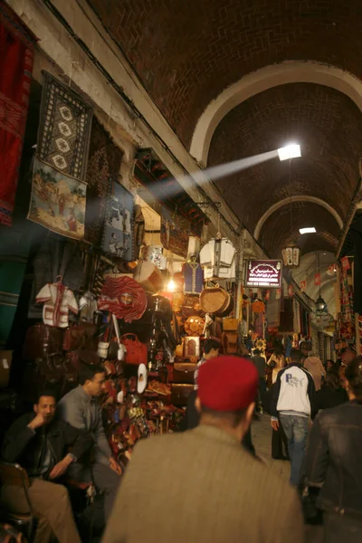
<path id="1" fill-rule="evenodd" d="M 133 195 L 124 186 L 112 181 L 103 230 L 102 249 L 126 262 L 134 260 L 133 208 Z"/>

